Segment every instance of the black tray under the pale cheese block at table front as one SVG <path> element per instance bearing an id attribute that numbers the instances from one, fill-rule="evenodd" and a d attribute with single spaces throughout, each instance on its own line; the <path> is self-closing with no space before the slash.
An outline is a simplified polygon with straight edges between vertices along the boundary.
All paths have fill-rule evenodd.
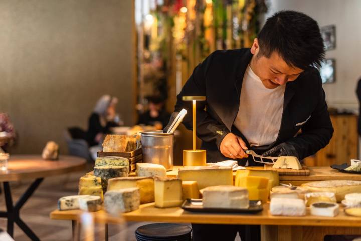
<path id="1" fill-rule="evenodd" d="M 186 199 L 182 209 L 189 212 L 213 212 L 213 213 L 257 213 L 263 210 L 262 201 L 249 201 L 248 208 L 204 208 L 202 199 Z"/>

